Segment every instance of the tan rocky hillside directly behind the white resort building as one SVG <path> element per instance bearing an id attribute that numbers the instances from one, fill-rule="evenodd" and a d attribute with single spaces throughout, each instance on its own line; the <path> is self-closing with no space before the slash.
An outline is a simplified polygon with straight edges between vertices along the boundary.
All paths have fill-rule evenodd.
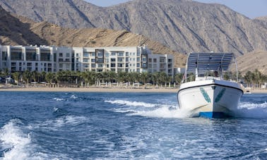
<path id="1" fill-rule="evenodd" d="M 66 47 L 114 47 L 138 46 L 146 44 L 155 54 L 173 54 L 175 66 L 183 67 L 183 54 L 172 51 L 148 37 L 136 35 L 126 30 L 73 29 L 63 28 L 47 22 L 35 23 L 22 16 L 11 15 L 0 7 L 1 45 L 54 45 Z"/>

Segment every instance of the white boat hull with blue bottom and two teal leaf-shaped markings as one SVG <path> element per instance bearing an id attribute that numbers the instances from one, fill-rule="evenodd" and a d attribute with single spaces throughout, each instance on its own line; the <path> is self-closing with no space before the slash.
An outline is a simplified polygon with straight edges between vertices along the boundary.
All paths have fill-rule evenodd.
<path id="1" fill-rule="evenodd" d="M 179 107 L 191 116 L 224 118 L 233 116 L 243 91 L 235 82 L 203 80 L 181 85 L 178 92 Z"/>

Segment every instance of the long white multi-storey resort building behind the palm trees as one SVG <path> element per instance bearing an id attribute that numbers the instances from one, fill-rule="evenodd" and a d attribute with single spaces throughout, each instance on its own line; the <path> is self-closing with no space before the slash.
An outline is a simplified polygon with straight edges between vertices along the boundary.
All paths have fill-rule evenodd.
<path id="1" fill-rule="evenodd" d="M 153 54 L 148 47 L 47 47 L 0 46 L 0 69 L 165 72 L 173 77 L 174 57 Z"/>

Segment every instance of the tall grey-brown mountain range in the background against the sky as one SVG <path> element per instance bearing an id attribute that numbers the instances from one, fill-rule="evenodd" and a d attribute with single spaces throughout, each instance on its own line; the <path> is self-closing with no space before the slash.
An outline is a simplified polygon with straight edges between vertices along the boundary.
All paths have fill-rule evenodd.
<path id="1" fill-rule="evenodd" d="M 83 0 L 0 0 L 7 11 L 64 27 L 126 30 L 167 47 L 191 51 L 232 51 L 237 56 L 267 50 L 267 25 L 220 4 L 191 0 L 133 0 L 99 7 Z"/>

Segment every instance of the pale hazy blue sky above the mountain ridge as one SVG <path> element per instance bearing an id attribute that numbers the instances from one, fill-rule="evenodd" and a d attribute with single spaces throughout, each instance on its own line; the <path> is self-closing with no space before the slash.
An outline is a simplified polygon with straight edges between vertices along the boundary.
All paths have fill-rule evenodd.
<path id="1" fill-rule="evenodd" d="M 97 6 L 112 6 L 129 0 L 85 0 Z M 143 0 L 146 1 L 146 0 Z M 195 0 L 203 3 L 224 4 L 249 18 L 267 16 L 267 0 Z"/>

